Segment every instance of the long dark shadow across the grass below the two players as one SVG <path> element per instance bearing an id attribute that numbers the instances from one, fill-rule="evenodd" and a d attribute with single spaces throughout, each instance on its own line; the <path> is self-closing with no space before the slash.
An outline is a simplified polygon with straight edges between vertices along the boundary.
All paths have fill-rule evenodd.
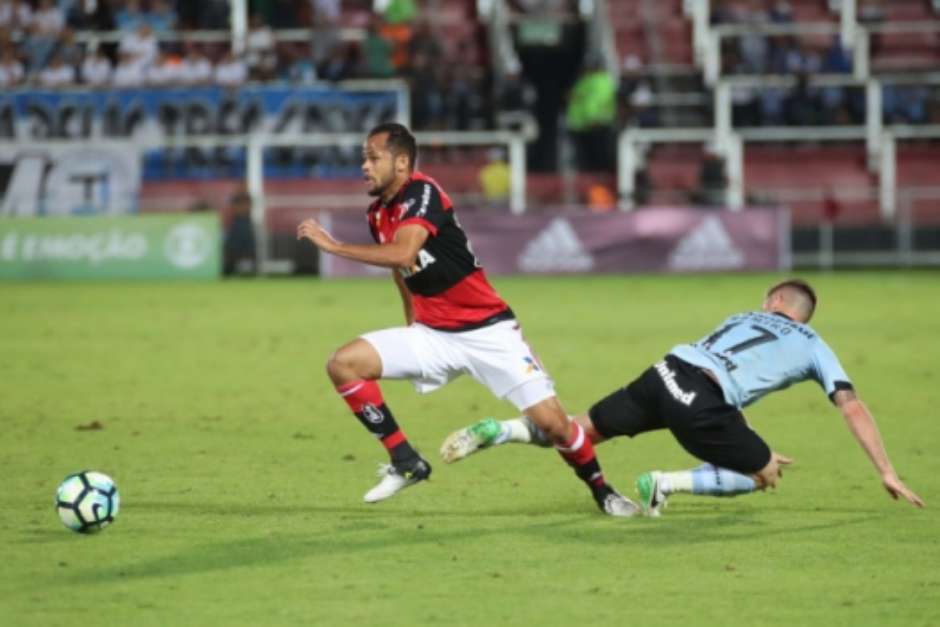
<path id="1" fill-rule="evenodd" d="M 138 509 L 157 508 L 167 510 L 173 507 L 191 512 L 194 515 L 229 514 L 235 511 L 233 506 L 192 505 L 184 503 L 138 503 Z M 297 513 L 344 516 L 332 529 L 318 529 L 310 534 L 271 533 L 266 536 L 240 538 L 237 540 L 194 544 L 185 550 L 153 559 L 143 559 L 123 566 L 107 569 L 96 568 L 87 572 L 74 572 L 68 578 L 58 577 L 55 584 L 99 585 L 118 581 L 160 579 L 199 573 L 221 572 L 237 568 L 266 566 L 279 562 L 323 557 L 333 555 L 353 556 L 362 553 L 380 554 L 393 549 L 396 552 L 411 547 L 424 547 L 424 550 L 438 551 L 447 559 L 460 551 L 461 547 L 480 545 L 490 538 L 499 538 L 505 542 L 507 536 L 519 536 L 527 540 L 537 538 L 549 545 L 570 546 L 587 545 L 587 550 L 609 552 L 611 546 L 622 545 L 629 550 L 631 545 L 642 543 L 644 546 L 670 547 L 704 544 L 712 542 L 736 542 L 739 544 L 760 543 L 764 539 L 791 534 L 813 535 L 826 534 L 832 529 L 864 524 L 883 518 L 882 515 L 868 511 L 867 515 L 846 516 L 832 512 L 824 516 L 767 516 L 767 510 L 761 510 L 760 516 L 750 509 L 717 510 L 714 506 L 689 507 L 678 515 L 654 519 L 611 519 L 599 515 L 573 515 L 570 505 L 566 515 L 560 517 L 547 513 L 544 508 L 533 510 L 475 511 L 422 509 L 385 510 L 378 516 L 364 507 L 314 507 L 314 506 L 271 506 L 264 508 L 268 515 L 290 515 Z M 538 515 L 534 513 L 539 509 Z M 545 520 L 546 515 L 551 520 Z M 349 519 L 365 522 L 372 519 L 379 525 L 350 524 Z M 433 520 L 440 517 L 460 517 L 477 519 L 499 517 L 498 525 L 466 525 L 460 528 L 435 529 L 428 525 L 403 527 L 401 518 L 411 521 Z M 395 519 L 388 524 L 381 523 L 388 518 Z M 523 520 L 520 521 L 519 519 Z M 528 522 L 525 519 L 538 518 Z M 821 518 L 825 518 L 821 521 Z M 516 519 L 512 522 L 510 519 Z"/>

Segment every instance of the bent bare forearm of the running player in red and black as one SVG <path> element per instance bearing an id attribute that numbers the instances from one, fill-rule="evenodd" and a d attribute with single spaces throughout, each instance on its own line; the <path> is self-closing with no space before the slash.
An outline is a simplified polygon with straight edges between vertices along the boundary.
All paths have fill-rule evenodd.
<path id="1" fill-rule="evenodd" d="M 323 252 L 384 268 L 414 265 L 427 238 L 428 231 L 424 227 L 406 225 L 398 229 L 395 239 L 387 244 L 346 244 L 336 240 L 312 218 L 297 227 L 297 239 L 310 240 Z"/>

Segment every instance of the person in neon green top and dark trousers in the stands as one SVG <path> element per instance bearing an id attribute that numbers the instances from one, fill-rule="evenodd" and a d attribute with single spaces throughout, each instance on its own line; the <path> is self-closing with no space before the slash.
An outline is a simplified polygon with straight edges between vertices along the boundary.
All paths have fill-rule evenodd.
<path id="1" fill-rule="evenodd" d="M 613 171 L 616 119 L 617 85 L 603 62 L 591 59 L 571 89 L 566 115 L 579 170 Z"/>

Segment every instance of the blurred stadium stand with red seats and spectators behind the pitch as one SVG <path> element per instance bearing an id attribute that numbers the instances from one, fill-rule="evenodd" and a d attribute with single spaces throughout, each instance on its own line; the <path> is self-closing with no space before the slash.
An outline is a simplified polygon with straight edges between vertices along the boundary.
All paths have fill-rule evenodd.
<path id="1" fill-rule="evenodd" d="M 548 73 L 536 76 L 533 55 L 544 57 L 553 44 L 539 47 L 536 41 L 533 48 L 531 38 L 551 29 L 529 28 L 529 41 L 521 34 L 527 22 L 530 27 L 539 20 L 542 26 L 557 22 L 570 39 L 563 54 L 574 55 L 572 67 L 606 58 L 609 71 L 620 74 L 617 132 L 688 128 L 717 134 L 726 106 L 719 90 L 732 79 L 743 82 L 729 92 L 731 132 L 795 127 L 788 141 L 763 141 L 759 134 L 746 139 L 741 158 L 745 205 L 787 205 L 798 227 L 832 217 L 837 225 L 853 227 L 883 223 L 889 215 L 880 195 L 883 164 L 878 141 L 866 129 L 895 133 L 903 125 L 907 130 L 898 131 L 893 175 L 897 205 L 918 221 L 940 223 L 940 141 L 930 139 L 940 125 L 936 3 L 855 0 L 857 14 L 850 23 L 859 26 L 860 35 L 843 42 L 845 20 L 837 0 L 714 0 L 705 24 L 708 36 L 720 41 L 720 64 L 712 77 L 697 48 L 695 10 L 702 2 L 415 0 L 399 6 L 374 0 L 251 1 L 242 43 L 233 38 L 230 5 L 223 0 L 8 0 L 0 3 L 0 87 L 238 88 L 396 78 L 407 85 L 416 130 L 499 128 L 507 111 L 538 118 L 539 139 L 530 146 L 526 177 L 529 209 L 571 204 L 610 209 L 605 194 L 617 189 L 618 175 L 579 172 L 568 144 L 564 106 L 574 74 L 569 77 L 567 65 L 551 57 Z M 503 26 L 515 48 L 516 54 L 506 58 L 497 54 L 494 40 L 495 5 L 506 7 Z M 592 6 L 602 12 L 592 14 Z M 604 29 L 610 31 L 606 44 L 595 37 Z M 557 83 L 552 87 L 558 93 L 546 91 L 546 76 Z M 555 98 L 552 107 L 544 106 Z M 878 120 L 867 111 L 873 104 L 881 109 Z M 854 135 L 817 141 L 815 128 L 822 134 L 842 128 Z M 916 128 L 933 131 L 920 138 Z M 652 142 L 633 173 L 634 195 L 621 201 L 653 207 L 714 204 L 710 186 L 730 186 L 731 177 L 729 163 L 722 163 L 727 148 L 710 144 Z M 479 174 L 493 159 L 491 149 L 423 146 L 422 168 L 464 206 L 484 204 Z M 304 175 L 302 166 L 266 182 L 272 226 L 287 228 L 313 202 L 361 210 L 360 184 L 350 172 L 313 177 Z M 231 168 L 168 176 L 180 169 L 157 162 L 146 167 L 142 211 L 205 206 L 224 211 L 244 184 Z"/>

